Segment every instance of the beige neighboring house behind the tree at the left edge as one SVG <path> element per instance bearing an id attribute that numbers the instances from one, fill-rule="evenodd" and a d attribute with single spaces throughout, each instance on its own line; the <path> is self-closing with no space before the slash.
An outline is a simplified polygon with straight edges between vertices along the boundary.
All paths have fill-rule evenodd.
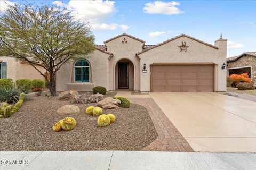
<path id="1" fill-rule="evenodd" d="M 42 73 L 43 67 L 36 66 Z M 27 62 L 15 61 L 13 57 L 0 57 L 0 75 L 2 78 L 10 78 L 15 82 L 18 79 L 41 79 L 44 77 Z"/>

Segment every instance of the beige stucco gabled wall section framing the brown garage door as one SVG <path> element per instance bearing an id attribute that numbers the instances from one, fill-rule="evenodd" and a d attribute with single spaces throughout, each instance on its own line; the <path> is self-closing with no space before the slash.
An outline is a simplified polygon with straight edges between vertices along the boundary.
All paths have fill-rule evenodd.
<path id="1" fill-rule="evenodd" d="M 178 46 L 186 41 L 187 52 L 180 52 Z M 215 91 L 226 91 L 226 69 L 221 66 L 226 62 L 226 41 L 215 43 L 220 49 L 204 45 L 187 37 L 180 37 L 139 55 L 140 68 L 147 65 L 147 73 L 140 71 L 140 91 L 150 91 L 150 65 L 151 64 L 214 64 L 215 65 Z M 223 49 L 222 49 L 223 48 Z M 220 52 L 221 50 L 221 52 Z"/>

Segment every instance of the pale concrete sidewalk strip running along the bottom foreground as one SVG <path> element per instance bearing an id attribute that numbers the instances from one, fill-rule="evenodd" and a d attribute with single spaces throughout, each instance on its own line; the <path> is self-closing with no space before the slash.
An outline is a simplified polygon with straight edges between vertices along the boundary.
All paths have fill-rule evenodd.
<path id="1" fill-rule="evenodd" d="M 1 170 L 97 169 L 97 170 L 152 170 L 152 169 L 256 169 L 256 154 L 146 152 L 146 151 L 49 151 L 0 152 Z M 23 160 L 20 164 L 14 161 Z M 15 163 L 15 162 L 14 162 Z M 18 162 L 17 162 L 18 163 Z M 25 164 L 24 164 L 25 163 Z"/>

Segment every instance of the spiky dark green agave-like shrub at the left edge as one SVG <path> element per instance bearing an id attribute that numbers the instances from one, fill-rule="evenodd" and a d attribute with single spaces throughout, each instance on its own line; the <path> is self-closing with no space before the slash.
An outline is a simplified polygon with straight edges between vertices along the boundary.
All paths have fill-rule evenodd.
<path id="1" fill-rule="evenodd" d="M 22 89 L 13 87 L 0 87 L 0 102 L 17 103 Z"/>

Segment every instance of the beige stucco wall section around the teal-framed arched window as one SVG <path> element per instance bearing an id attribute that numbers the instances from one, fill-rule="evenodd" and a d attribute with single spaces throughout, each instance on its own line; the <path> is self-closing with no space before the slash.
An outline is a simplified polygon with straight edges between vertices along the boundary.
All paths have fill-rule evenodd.
<path id="1" fill-rule="evenodd" d="M 76 61 L 64 64 L 57 72 L 57 91 L 77 90 L 92 91 L 95 86 L 108 89 L 108 60 L 109 54 L 94 50 L 92 54 L 81 57 L 90 64 L 90 82 L 74 82 L 74 65 Z"/>

